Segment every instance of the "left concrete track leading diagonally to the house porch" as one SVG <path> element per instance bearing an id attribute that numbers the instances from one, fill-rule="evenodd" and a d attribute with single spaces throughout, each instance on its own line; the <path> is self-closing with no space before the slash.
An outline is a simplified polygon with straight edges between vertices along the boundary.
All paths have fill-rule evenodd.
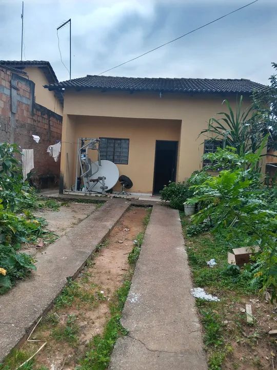
<path id="1" fill-rule="evenodd" d="M 0 296 L 0 363 L 100 244 L 130 202 L 111 199 L 36 256 L 37 271 Z"/>

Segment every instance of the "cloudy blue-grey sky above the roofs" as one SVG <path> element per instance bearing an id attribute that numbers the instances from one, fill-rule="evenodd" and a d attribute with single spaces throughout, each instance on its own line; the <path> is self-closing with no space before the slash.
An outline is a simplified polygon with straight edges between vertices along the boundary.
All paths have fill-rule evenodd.
<path id="1" fill-rule="evenodd" d="M 23 60 L 69 79 L 56 28 L 71 18 L 71 78 L 136 57 L 251 0 L 25 0 Z M 0 59 L 21 58 L 21 0 L 0 0 Z M 126 77 L 245 78 L 268 84 L 277 62 L 277 0 L 251 6 L 124 66 Z M 58 31 L 69 68 L 69 25 Z"/>

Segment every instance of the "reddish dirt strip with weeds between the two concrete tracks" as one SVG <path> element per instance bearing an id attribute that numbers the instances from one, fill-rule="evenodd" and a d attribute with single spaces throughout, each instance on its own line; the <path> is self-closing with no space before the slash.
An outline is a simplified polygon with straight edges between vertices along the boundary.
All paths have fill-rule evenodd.
<path id="1" fill-rule="evenodd" d="M 93 207 L 78 206 L 89 206 L 90 211 Z M 145 208 L 131 207 L 122 216 L 107 241 L 98 246 L 94 258 L 88 261 L 80 276 L 64 289 L 54 308 L 33 332 L 31 339 L 42 342 L 25 342 L 22 345 L 20 349 L 24 352 L 35 353 L 43 342 L 47 342 L 36 356 L 35 368 L 75 368 L 78 359 L 88 350 L 91 339 L 103 333 L 104 325 L 110 318 L 109 301 L 124 281 L 129 269 L 128 254 L 136 235 L 144 230 L 146 214 Z"/>

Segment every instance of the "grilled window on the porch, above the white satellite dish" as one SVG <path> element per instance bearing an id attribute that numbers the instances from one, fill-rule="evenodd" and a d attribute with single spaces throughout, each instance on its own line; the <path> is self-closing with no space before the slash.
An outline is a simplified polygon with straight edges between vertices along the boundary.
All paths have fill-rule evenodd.
<path id="1" fill-rule="evenodd" d="M 100 138 L 101 159 L 117 164 L 128 164 L 129 139 Z"/>

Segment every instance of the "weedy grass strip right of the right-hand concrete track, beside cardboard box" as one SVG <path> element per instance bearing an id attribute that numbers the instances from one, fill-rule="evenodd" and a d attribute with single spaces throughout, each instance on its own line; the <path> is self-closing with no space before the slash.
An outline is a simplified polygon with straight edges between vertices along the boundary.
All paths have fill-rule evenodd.
<path id="1" fill-rule="evenodd" d="M 240 269 L 227 262 L 227 252 L 240 245 L 240 235 L 235 240 L 228 240 L 220 234 L 211 235 L 207 232 L 189 237 L 191 235 L 191 228 L 189 235 L 187 234 L 187 229 L 191 225 L 189 218 L 185 217 L 183 212 L 180 212 L 180 216 L 194 286 L 204 288 L 221 300 L 208 302 L 196 299 L 204 328 L 203 339 L 209 370 L 221 370 L 227 356 L 233 352 L 229 342 L 237 338 L 236 342 L 242 345 L 251 348 L 256 345 L 251 338 L 245 337 L 248 325 L 245 313 L 238 312 L 238 304 L 245 304 L 245 296 L 257 294 L 258 287 L 250 284 L 252 276 L 247 268 Z M 213 268 L 207 266 L 207 261 L 211 258 L 215 258 L 217 263 Z M 226 318 L 230 323 L 228 330 L 224 324 Z M 259 359 L 254 358 L 252 361 L 259 363 Z M 233 368 L 238 368 L 235 362 Z"/>

